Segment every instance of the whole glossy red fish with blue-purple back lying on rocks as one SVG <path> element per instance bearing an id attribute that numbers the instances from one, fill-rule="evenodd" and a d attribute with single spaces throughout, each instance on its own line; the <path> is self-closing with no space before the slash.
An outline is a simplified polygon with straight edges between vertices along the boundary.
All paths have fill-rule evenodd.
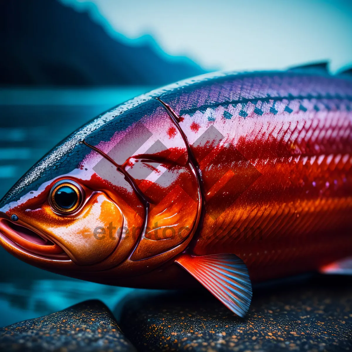
<path id="1" fill-rule="evenodd" d="M 117 286 L 203 285 L 245 316 L 252 283 L 352 270 L 352 75 L 213 73 L 99 115 L 0 203 L 2 247 Z"/>

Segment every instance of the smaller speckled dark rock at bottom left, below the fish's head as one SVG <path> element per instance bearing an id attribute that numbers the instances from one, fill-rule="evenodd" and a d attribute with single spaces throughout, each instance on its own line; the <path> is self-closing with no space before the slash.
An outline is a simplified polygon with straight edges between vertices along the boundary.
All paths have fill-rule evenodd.
<path id="1" fill-rule="evenodd" d="M 1 351 L 136 351 L 101 301 L 2 328 Z"/>

